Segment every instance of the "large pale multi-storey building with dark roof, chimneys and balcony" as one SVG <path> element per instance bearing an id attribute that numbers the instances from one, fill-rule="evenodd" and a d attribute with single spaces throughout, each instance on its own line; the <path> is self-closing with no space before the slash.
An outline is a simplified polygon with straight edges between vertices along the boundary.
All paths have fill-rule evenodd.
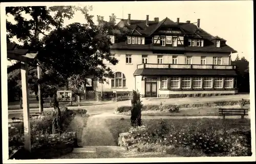
<path id="1" fill-rule="evenodd" d="M 97 94 L 113 97 L 138 90 L 142 97 L 183 97 L 236 94 L 236 66 L 226 40 L 200 28 L 200 19 L 174 22 L 121 19 L 125 39 L 110 36 L 112 58 L 106 64 L 115 72 L 109 83 L 95 81 Z M 96 94 L 96 95 L 97 95 Z M 99 95 L 97 96 L 99 97 Z"/>

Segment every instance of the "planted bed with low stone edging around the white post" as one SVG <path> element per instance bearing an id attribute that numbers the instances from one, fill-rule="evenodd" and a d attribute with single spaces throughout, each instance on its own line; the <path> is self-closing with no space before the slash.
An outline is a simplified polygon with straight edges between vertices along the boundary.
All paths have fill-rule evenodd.
<path id="1" fill-rule="evenodd" d="M 62 133 L 52 133 L 52 120 L 54 111 L 46 111 L 40 119 L 31 119 L 31 158 L 51 158 L 52 156 L 61 155 L 71 152 L 77 147 L 75 132 L 68 132 L 67 128 L 75 115 L 85 115 L 86 110 L 68 110 L 67 107 L 61 108 Z M 14 150 L 24 152 L 24 127 L 19 123 L 14 127 L 9 127 L 9 155 Z M 59 151 L 59 153 L 55 151 Z M 20 151 L 19 151 L 20 152 Z M 18 153 L 20 154 L 20 153 Z M 14 155 L 15 156 L 15 155 Z M 16 155 L 24 157 L 24 155 Z M 17 158 L 17 157 L 16 157 Z"/>

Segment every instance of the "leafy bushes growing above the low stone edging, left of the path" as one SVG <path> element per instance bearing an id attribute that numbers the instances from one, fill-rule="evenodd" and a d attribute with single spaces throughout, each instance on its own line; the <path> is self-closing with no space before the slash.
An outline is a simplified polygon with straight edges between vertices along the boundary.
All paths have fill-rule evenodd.
<path id="1" fill-rule="evenodd" d="M 65 138 L 68 138 L 66 134 L 66 130 L 70 125 L 74 115 L 86 115 L 87 110 L 79 109 L 79 110 L 68 110 L 67 107 L 61 107 L 61 124 L 62 124 L 62 134 L 53 138 L 54 141 L 62 141 Z M 30 126 L 31 126 L 31 143 L 41 143 L 44 142 L 48 144 L 52 135 L 52 121 L 53 121 L 53 114 L 54 111 L 44 111 L 42 113 L 41 119 L 31 119 Z M 12 152 L 13 149 L 17 149 L 20 146 L 24 145 L 24 126 L 23 123 L 17 124 L 14 127 L 9 127 L 9 150 Z M 61 137 L 61 138 L 60 138 Z"/>

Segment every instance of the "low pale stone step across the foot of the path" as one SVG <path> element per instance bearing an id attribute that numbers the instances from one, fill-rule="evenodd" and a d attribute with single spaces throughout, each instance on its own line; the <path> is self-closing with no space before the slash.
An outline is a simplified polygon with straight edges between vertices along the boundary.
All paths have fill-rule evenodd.
<path id="1" fill-rule="evenodd" d="M 83 146 L 82 148 L 73 149 L 73 153 L 96 153 L 110 151 L 126 152 L 127 149 L 120 146 Z"/>

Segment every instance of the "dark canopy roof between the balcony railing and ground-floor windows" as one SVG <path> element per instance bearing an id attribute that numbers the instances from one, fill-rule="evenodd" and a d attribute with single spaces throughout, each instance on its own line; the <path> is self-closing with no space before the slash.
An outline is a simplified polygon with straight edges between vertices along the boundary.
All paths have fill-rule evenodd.
<path id="1" fill-rule="evenodd" d="M 236 76 L 235 70 L 196 70 L 196 69 L 137 69 L 134 75 L 224 75 Z"/>

